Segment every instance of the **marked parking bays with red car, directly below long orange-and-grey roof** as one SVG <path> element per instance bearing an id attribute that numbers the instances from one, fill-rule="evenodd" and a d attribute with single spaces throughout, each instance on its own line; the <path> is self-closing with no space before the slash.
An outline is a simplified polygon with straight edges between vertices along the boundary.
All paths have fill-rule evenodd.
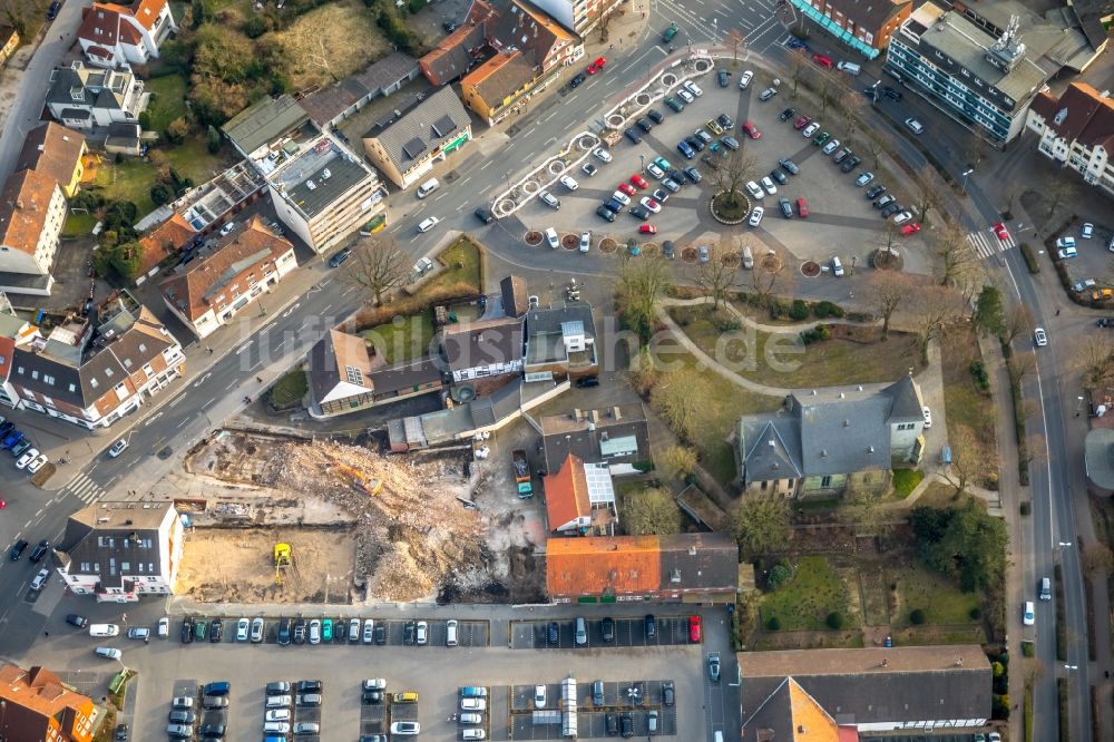
<path id="1" fill-rule="evenodd" d="M 557 624 L 557 641 L 549 641 L 549 625 Z M 574 621 L 515 621 L 510 624 L 511 647 L 515 650 L 575 650 L 607 648 L 629 646 L 670 646 L 688 644 L 688 618 L 671 616 L 655 618 L 656 627 L 653 637 L 646 636 L 645 622 L 642 618 L 618 618 L 615 621 L 615 640 L 605 642 L 603 635 L 604 619 L 587 619 L 587 643 L 578 647 L 576 644 L 576 625 Z"/>

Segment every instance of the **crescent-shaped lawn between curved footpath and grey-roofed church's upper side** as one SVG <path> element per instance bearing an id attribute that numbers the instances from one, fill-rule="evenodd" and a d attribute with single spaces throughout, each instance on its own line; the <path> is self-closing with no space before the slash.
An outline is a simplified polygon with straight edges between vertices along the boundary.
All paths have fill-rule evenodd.
<path id="1" fill-rule="evenodd" d="M 711 314 L 710 306 L 670 307 L 670 315 L 701 350 L 739 375 L 771 387 L 887 382 L 908 373 L 910 367 L 920 367 L 912 339 L 902 333 L 890 332 L 889 340 L 880 341 L 877 328 L 858 328 L 853 330 L 857 340 L 833 338 L 804 345 L 793 331 L 775 334 L 744 326 L 724 333 L 712 323 Z"/>

